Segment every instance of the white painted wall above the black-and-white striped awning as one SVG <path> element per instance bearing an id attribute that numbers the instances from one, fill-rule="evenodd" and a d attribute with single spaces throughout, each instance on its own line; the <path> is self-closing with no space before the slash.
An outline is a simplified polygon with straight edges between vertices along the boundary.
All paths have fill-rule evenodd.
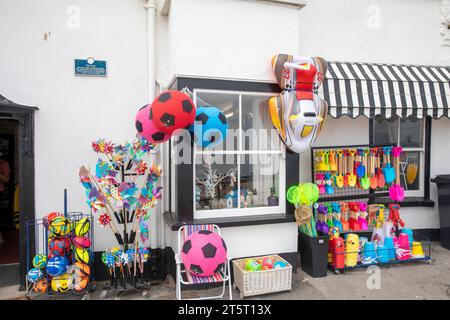
<path id="1" fill-rule="evenodd" d="M 440 3 L 308 1 L 300 10 L 300 52 L 335 61 L 448 65 L 450 47 L 442 46 Z"/>

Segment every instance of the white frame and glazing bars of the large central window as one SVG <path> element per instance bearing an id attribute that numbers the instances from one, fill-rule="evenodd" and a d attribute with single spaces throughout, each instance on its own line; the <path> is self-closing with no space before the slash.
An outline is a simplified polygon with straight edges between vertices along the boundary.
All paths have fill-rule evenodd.
<path id="1" fill-rule="evenodd" d="M 273 93 L 267 92 L 247 92 L 247 91 L 232 91 L 232 90 L 211 90 L 211 89 L 194 89 L 193 101 L 197 104 L 197 93 L 217 93 L 217 94 L 232 94 L 239 95 L 239 132 L 241 133 L 238 138 L 238 150 L 201 150 L 194 144 L 193 149 L 193 177 L 192 188 L 193 193 L 193 206 L 194 206 L 194 219 L 211 219 L 211 218 L 225 218 L 225 217 L 239 217 L 239 216 L 256 216 L 256 215 L 270 215 L 270 214 L 285 214 L 286 213 L 286 201 L 284 199 L 286 189 L 286 149 L 283 143 L 280 143 L 280 150 L 243 150 L 243 132 L 242 132 L 242 96 L 267 96 L 273 97 Z M 196 178 L 196 158 L 197 155 L 203 154 L 233 154 L 237 157 L 237 208 L 223 208 L 223 209 L 207 209 L 197 210 L 196 196 L 195 196 L 195 178 Z M 241 208 L 240 203 L 240 155 L 258 155 L 258 154 L 278 154 L 280 155 L 280 168 L 279 168 L 279 190 L 278 190 L 278 206 L 267 207 L 254 207 L 254 208 Z"/>

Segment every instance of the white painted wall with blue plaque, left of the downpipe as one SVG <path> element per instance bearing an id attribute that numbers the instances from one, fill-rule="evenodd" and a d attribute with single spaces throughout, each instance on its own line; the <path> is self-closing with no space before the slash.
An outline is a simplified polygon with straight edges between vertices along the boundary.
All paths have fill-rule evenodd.
<path id="1" fill-rule="evenodd" d="M 67 9 L 80 8 L 80 29 Z M 82 164 L 96 163 L 95 138 L 131 140 L 136 110 L 147 99 L 146 9 L 142 0 L 0 0 L 0 92 L 36 105 L 36 215 L 86 211 L 78 182 Z M 44 40 L 44 33 L 50 33 Z M 74 59 L 108 62 L 106 78 L 74 76 Z M 113 242 L 96 225 L 95 248 Z"/>

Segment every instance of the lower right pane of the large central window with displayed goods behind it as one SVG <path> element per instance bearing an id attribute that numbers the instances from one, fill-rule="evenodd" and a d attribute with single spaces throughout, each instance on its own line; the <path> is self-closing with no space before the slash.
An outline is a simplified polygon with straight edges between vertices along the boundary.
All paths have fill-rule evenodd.
<path id="1" fill-rule="evenodd" d="M 241 155 L 240 159 L 241 207 L 278 206 L 281 155 Z"/>

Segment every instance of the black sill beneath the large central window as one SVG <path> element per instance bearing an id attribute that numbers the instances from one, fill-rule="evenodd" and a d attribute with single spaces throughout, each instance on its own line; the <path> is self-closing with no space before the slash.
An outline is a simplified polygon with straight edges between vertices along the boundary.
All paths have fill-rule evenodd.
<path id="1" fill-rule="evenodd" d="M 178 230 L 184 224 L 217 224 L 221 228 L 226 228 L 295 222 L 295 217 L 293 215 L 284 213 L 257 216 L 196 219 L 193 221 L 182 222 L 177 221 L 173 212 L 164 212 L 163 218 L 164 222 L 171 228 L 172 231 Z"/>

